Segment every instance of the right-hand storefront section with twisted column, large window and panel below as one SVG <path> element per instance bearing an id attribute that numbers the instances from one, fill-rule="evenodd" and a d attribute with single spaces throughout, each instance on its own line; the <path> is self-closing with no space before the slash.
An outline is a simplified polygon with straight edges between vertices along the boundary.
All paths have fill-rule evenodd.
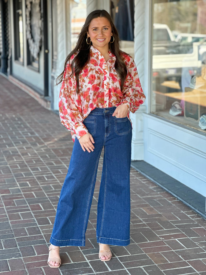
<path id="1" fill-rule="evenodd" d="M 206 197 L 206 3 L 135 4 L 135 60 L 147 97 L 143 159 Z"/>

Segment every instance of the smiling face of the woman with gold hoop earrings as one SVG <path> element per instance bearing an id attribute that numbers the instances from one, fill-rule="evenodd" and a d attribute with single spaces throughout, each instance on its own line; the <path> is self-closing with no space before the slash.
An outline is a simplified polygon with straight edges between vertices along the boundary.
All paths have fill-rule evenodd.
<path id="1" fill-rule="evenodd" d="M 90 37 L 92 45 L 101 50 L 109 50 L 109 42 L 112 36 L 112 27 L 105 17 L 97 17 L 90 22 L 87 36 Z"/>

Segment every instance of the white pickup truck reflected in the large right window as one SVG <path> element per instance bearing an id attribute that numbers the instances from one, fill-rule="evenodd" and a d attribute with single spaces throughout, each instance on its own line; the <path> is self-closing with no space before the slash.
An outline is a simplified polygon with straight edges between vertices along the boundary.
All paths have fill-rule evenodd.
<path id="1" fill-rule="evenodd" d="M 175 41 L 169 27 L 165 24 L 153 25 L 153 90 L 162 93 L 174 91 L 173 88 L 163 86 L 165 81 L 173 80 L 179 83 L 181 90 L 181 77 L 183 70 L 189 70 L 191 76 L 201 73 L 201 60 L 199 60 L 199 42 L 187 48 Z M 174 88 L 175 89 L 175 88 Z"/>

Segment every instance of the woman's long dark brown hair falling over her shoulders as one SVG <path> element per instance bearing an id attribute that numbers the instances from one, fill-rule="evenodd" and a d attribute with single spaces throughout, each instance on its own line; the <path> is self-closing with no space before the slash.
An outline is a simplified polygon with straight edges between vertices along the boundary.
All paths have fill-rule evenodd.
<path id="1" fill-rule="evenodd" d="M 109 43 L 109 49 L 116 56 L 116 61 L 115 61 L 114 67 L 121 79 L 121 90 L 123 89 L 124 80 L 127 75 L 127 68 L 126 68 L 124 61 L 122 60 L 121 51 L 119 48 L 119 35 L 118 35 L 117 29 L 112 21 L 111 16 L 104 9 L 103 10 L 98 9 L 96 11 L 92 11 L 87 16 L 86 21 L 82 27 L 82 30 L 81 30 L 80 34 L 78 35 L 76 47 L 74 48 L 74 50 L 72 52 L 70 52 L 70 54 L 68 54 L 68 56 L 65 60 L 63 72 L 56 79 L 57 85 L 62 82 L 67 62 L 70 60 L 71 56 L 75 52 L 79 51 L 78 54 L 75 56 L 75 58 L 72 60 L 72 64 L 71 64 L 72 73 L 69 76 L 71 78 L 75 72 L 76 81 L 77 81 L 77 86 L 76 86 L 77 94 L 78 94 L 78 88 L 79 88 L 79 75 L 80 75 L 82 69 L 84 68 L 84 66 L 90 60 L 90 45 L 88 45 L 86 42 L 88 28 L 89 28 L 89 25 L 90 25 L 92 19 L 97 18 L 97 17 L 105 17 L 106 19 L 108 19 L 108 21 L 110 22 L 111 27 L 112 27 L 112 34 L 114 36 L 114 42 Z M 113 40 L 113 38 L 111 38 L 111 39 Z"/>

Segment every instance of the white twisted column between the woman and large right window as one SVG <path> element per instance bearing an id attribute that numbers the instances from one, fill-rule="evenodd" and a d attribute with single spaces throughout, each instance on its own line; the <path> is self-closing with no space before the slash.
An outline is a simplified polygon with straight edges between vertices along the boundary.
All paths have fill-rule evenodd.
<path id="1" fill-rule="evenodd" d="M 150 90 L 150 73 L 148 73 L 148 66 L 150 56 L 150 20 L 148 19 L 149 1 L 135 0 L 134 5 L 134 61 L 137 66 L 140 83 L 146 101 L 134 113 L 130 113 L 132 120 L 132 160 L 144 159 L 144 140 L 143 140 L 143 118 L 142 114 L 148 110 L 148 91 Z"/>

